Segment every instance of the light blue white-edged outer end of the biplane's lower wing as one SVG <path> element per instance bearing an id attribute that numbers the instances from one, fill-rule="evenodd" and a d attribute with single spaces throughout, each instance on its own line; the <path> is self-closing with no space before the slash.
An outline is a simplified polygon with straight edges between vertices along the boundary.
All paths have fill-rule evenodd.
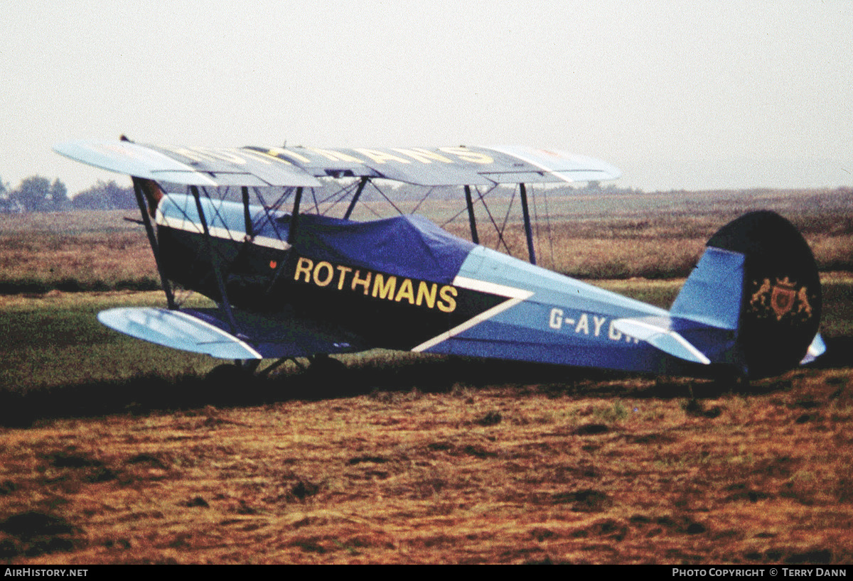
<path id="1" fill-rule="evenodd" d="M 98 320 L 110 329 L 164 347 L 220 359 L 263 359 L 247 342 L 182 311 L 153 307 L 111 308 L 98 313 Z"/>

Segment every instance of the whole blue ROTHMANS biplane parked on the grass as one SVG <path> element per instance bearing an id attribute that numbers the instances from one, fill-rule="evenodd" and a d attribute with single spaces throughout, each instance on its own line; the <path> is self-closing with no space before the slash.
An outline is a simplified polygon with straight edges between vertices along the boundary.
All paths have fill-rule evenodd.
<path id="1" fill-rule="evenodd" d="M 131 176 L 165 291 L 165 308 L 112 308 L 98 319 L 233 360 L 235 370 L 390 348 L 765 377 L 825 350 L 814 257 L 770 211 L 714 234 L 669 310 L 538 267 L 528 187 L 618 178 L 594 158 L 529 147 L 159 147 L 124 137 L 55 151 Z M 418 215 L 427 195 L 403 210 L 409 187 L 456 198 L 470 239 Z M 486 204 L 496 187 L 513 188 L 509 207 L 518 199 L 526 261 L 480 244 L 478 214 L 501 221 Z M 371 195 L 394 216 L 366 213 Z M 189 308 L 187 291 L 217 306 Z"/>

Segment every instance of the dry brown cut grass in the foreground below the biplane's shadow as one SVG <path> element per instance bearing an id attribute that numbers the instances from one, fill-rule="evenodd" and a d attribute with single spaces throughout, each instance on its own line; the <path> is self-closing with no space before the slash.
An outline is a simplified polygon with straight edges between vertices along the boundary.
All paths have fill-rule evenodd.
<path id="1" fill-rule="evenodd" d="M 696 383 L 693 401 L 688 385 L 378 391 L 6 429 L 0 551 L 11 563 L 850 562 L 850 371 L 743 395 Z M 13 515 L 34 524 L 9 532 Z"/>

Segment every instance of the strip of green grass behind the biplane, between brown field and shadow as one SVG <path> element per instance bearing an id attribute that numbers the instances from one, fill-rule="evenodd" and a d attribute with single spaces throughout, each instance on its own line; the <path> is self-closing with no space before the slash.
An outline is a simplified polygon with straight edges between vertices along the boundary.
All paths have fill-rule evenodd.
<path id="1" fill-rule="evenodd" d="M 644 302 L 668 307 L 682 281 L 616 280 L 601 286 Z M 853 336 L 853 279 L 824 282 L 825 337 Z M 203 299 L 200 299 L 203 300 Z M 0 303 L 0 389 L 26 391 L 78 383 L 120 383 L 136 377 L 201 376 L 222 363 L 206 355 L 183 353 L 126 337 L 101 325 L 96 314 L 118 306 L 163 306 L 160 292 L 55 293 Z M 396 368 L 421 362 L 424 368 L 444 365 L 440 358 L 389 351 L 343 357 L 351 367 Z M 285 368 L 287 371 L 288 368 Z M 293 365 L 291 371 L 298 368 Z M 416 380 L 415 380 L 416 381 Z M 462 377 L 459 381 L 464 382 Z"/>

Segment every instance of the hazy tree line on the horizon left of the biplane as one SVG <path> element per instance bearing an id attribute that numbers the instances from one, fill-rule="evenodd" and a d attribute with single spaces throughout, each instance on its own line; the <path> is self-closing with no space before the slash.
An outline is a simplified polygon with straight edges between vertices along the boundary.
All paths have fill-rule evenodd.
<path id="1" fill-rule="evenodd" d="M 31 175 L 17 187 L 0 179 L 0 213 L 61 212 L 65 210 L 125 210 L 136 208 L 132 187 L 121 187 L 115 181 L 97 183 L 68 197 L 68 188 L 58 178 L 50 181 L 43 175 Z"/>

